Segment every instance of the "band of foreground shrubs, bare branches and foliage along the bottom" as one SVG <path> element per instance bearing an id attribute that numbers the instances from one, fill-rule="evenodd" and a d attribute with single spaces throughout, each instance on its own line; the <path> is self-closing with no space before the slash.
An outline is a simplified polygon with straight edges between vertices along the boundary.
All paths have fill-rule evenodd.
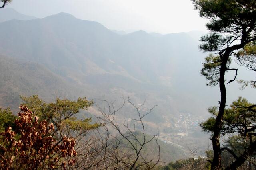
<path id="1" fill-rule="evenodd" d="M 138 111 L 137 123 L 133 129 L 127 124 L 116 123 L 115 114 L 122 108 L 114 108 L 106 103 L 108 109 L 102 109 L 101 117 L 92 121 L 91 118 L 81 117 L 82 109 L 92 106 L 93 101 L 78 98 L 76 101 L 57 98 L 55 102 L 46 103 L 38 96 L 22 98 L 20 113 L 15 116 L 10 109 L 0 111 L 0 163 L 1 169 L 156 169 L 156 170 L 206 170 L 211 168 L 213 150 L 205 151 L 204 157 L 196 158 L 198 150 L 191 150 L 187 159 L 170 162 L 159 166 L 160 146 L 168 150 L 157 136 L 146 135 L 143 118 Z M 130 102 L 130 99 L 124 100 Z M 223 126 L 227 131 L 229 125 L 238 127 L 254 122 L 254 112 L 246 112 L 251 106 L 247 100 L 239 98 L 226 110 Z M 138 107 L 134 105 L 135 109 Z M 112 108 L 112 109 L 111 109 Z M 218 111 L 212 107 L 209 112 L 213 117 L 201 124 L 205 131 L 213 131 L 214 116 Z M 150 112 L 148 112 L 150 113 Z M 78 115 L 79 114 L 79 115 Z M 79 118 L 78 118 L 79 117 Z M 240 125 L 240 124 L 241 125 Z M 243 129 L 240 127 L 240 129 Z M 248 136 L 248 135 L 247 135 Z M 232 135 L 225 141 L 222 151 L 222 167 L 228 167 L 234 161 L 234 156 L 243 154 L 250 145 L 250 138 L 244 140 L 239 135 Z M 254 139 L 252 139 L 254 140 Z M 169 146 L 170 147 L 170 146 Z M 234 152 L 231 154 L 231 150 Z M 177 150 L 177 152 L 182 152 Z M 168 154 L 178 156 L 174 150 Z M 8 163 L 6 163 L 8 162 Z M 255 154 L 252 154 L 239 169 L 254 169 Z"/>

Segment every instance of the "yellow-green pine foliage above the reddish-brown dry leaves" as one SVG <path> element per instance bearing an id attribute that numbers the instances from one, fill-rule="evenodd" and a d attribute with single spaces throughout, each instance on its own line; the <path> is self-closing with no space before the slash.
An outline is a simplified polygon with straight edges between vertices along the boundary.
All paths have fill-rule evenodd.
<path id="1" fill-rule="evenodd" d="M 38 97 L 33 96 L 20 96 L 24 105 L 33 111 L 40 120 L 47 120 L 54 123 L 54 125 L 61 125 L 61 128 L 70 128 L 72 130 L 80 129 L 87 131 L 100 127 L 100 124 L 92 122 L 91 118 L 83 117 L 78 119 L 77 113 L 82 109 L 87 109 L 94 103 L 93 100 L 86 100 L 86 98 L 78 98 L 77 101 L 68 99 L 57 98 L 55 102 L 46 103 Z"/>

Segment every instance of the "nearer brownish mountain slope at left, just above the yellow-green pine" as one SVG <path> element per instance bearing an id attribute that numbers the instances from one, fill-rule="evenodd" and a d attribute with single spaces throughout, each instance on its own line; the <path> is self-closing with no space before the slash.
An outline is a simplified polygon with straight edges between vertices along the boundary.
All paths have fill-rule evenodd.
<path id="1" fill-rule="evenodd" d="M 72 99 L 79 94 L 79 88 L 74 90 L 63 78 L 38 63 L 0 55 L 0 72 L 0 104 L 14 111 L 18 111 L 20 95 L 40 94 L 52 101 L 58 93 Z"/>

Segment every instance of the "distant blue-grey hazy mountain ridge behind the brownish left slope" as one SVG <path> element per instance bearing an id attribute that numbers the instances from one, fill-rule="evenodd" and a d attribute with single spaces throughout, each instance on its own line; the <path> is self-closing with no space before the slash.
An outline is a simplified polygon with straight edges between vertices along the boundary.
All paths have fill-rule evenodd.
<path id="1" fill-rule="evenodd" d="M 109 99 L 111 95 L 117 97 L 111 89 L 118 87 L 122 89 L 119 97 L 131 93 L 140 101 L 144 100 L 143 94 L 150 94 L 150 104 L 159 105 L 163 100 L 160 98 L 169 100 L 158 95 L 162 91 L 159 88 L 165 89 L 166 96 L 193 92 L 180 91 L 181 79 L 175 72 L 186 76 L 191 69 L 191 75 L 198 75 L 200 68 L 196 60 L 186 58 L 188 54 L 200 56 L 197 45 L 193 46 L 195 41 L 186 33 L 155 37 L 145 31 L 136 31 L 118 35 L 100 23 L 80 20 L 66 13 L 36 20 L 11 20 L 0 23 L 0 31 L 5 32 L 0 35 L 2 54 L 40 63 L 67 82 L 88 88 L 84 93 L 97 98 L 102 96 L 92 87 L 97 87 Z M 4 39 L 7 41 L 2 41 Z M 197 65 L 198 70 L 188 67 L 183 59 Z M 177 91 L 182 94 L 174 95 L 171 88 L 179 88 Z M 153 100 L 154 95 L 160 97 L 159 101 Z M 161 107 L 175 114 L 179 112 L 179 108 L 166 104 Z"/>

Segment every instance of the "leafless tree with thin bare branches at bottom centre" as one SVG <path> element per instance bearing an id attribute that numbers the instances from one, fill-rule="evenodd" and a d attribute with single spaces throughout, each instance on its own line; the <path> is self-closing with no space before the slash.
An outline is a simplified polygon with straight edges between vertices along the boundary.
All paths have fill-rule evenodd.
<path id="1" fill-rule="evenodd" d="M 104 126 L 94 129 L 93 133 L 89 135 L 89 139 L 77 148 L 76 168 L 89 170 L 150 170 L 154 168 L 160 160 L 158 135 L 146 135 L 143 122 L 143 118 L 151 113 L 154 107 L 147 113 L 142 114 L 139 109 L 144 104 L 137 107 L 129 97 L 127 100 L 124 99 L 123 104 L 118 108 L 114 106 L 113 102 L 104 101 L 104 103 L 106 107 L 100 109 L 101 116 L 98 117 L 98 121 Z M 138 118 L 133 119 L 136 125 L 131 126 L 127 121 L 120 123 L 116 119 L 117 113 L 121 111 L 126 103 L 131 104 L 136 110 Z M 139 128 L 142 132 L 136 131 Z M 143 153 L 144 147 L 149 143 L 156 144 L 157 155 L 149 156 Z"/>

